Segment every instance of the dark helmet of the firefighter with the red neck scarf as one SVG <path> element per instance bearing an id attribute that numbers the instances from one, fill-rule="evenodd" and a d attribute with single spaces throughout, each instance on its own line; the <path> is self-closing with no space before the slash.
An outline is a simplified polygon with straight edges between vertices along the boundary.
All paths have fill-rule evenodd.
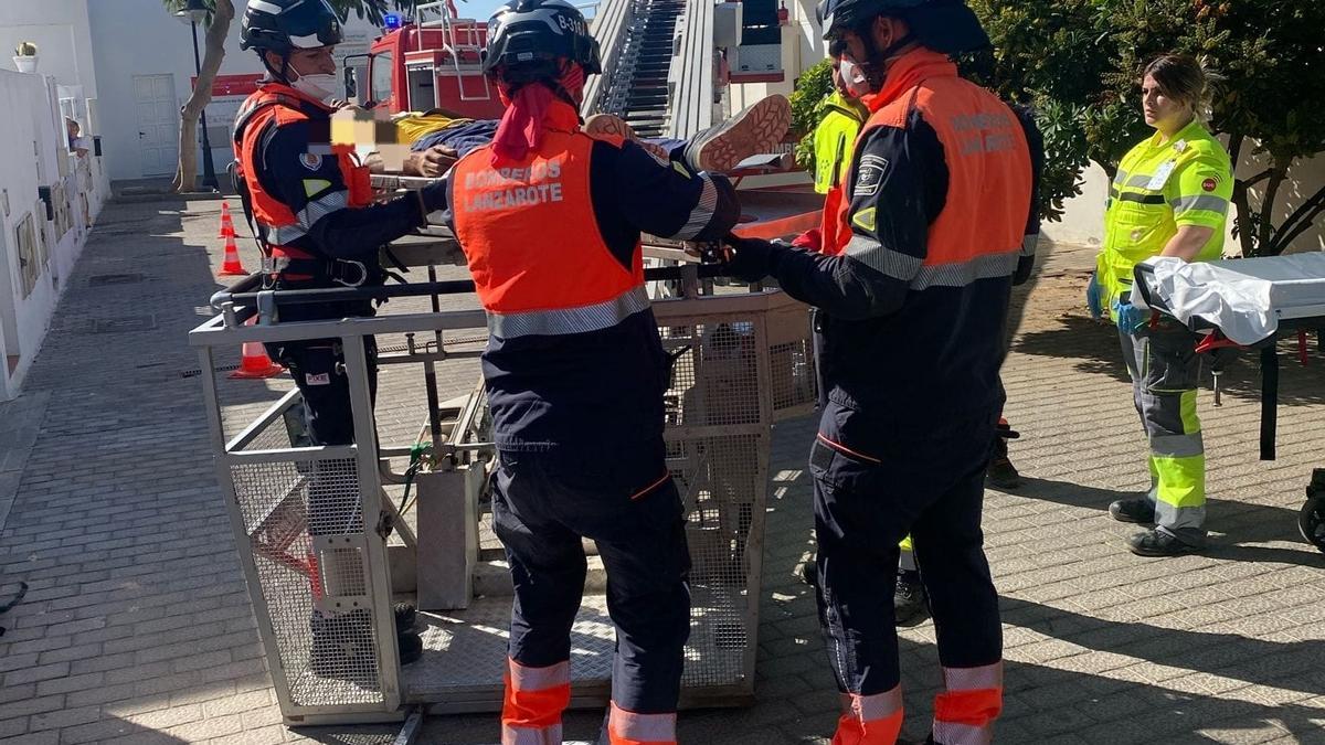
<path id="1" fill-rule="evenodd" d="M 588 33 L 588 21 L 567 0 L 510 0 L 488 21 L 488 45 L 482 53 L 484 72 L 498 77 L 523 78 L 521 68 L 555 76 L 560 58 L 578 62 L 586 76 L 603 72 L 598 40 Z"/>

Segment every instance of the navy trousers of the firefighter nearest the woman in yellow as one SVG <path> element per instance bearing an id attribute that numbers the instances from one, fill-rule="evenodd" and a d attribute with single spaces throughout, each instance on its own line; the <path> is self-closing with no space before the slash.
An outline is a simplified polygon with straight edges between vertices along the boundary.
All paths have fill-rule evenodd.
<path id="1" fill-rule="evenodd" d="M 901 681 L 893 587 L 910 533 L 945 668 L 1002 659 L 998 593 L 980 506 L 998 412 L 909 432 L 829 399 L 810 455 L 819 542 L 819 612 L 841 691 L 884 693 Z"/>

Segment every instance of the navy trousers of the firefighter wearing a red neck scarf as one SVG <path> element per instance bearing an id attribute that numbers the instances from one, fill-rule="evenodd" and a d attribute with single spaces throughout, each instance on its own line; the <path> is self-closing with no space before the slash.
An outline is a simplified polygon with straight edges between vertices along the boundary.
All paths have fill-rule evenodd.
<path id="1" fill-rule="evenodd" d="M 661 439 L 612 449 L 500 453 L 493 528 L 515 583 L 510 656 L 526 667 L 570 659 L 584 591 L 580 538 L 591 538 L 616 626 L 612 701 L 636 713 L 674 712 L 690 634 L 684 506 Z"/>

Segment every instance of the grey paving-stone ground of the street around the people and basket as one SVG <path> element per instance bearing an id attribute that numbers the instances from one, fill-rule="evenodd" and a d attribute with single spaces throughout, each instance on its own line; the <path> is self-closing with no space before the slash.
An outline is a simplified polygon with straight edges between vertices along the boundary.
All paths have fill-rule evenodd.
<path id="1" fill-rule="evenodd" d="M 186 343 L 219 288 L 217 209 L 109 205 L 24 394 L 40 414 L 0 407 L 0 487 L 7 473 L 17 481 L 0 597 L 30 586 L 0 618 L 0 742 L 392 741 L 384 726 L 280 725 Z M 1008 660 L 998 741 L 1325 742 L 1325 557 L 1295 525 L 1325 435 L 1325 359 L 1285 363 L 1273 463 L 1256 460 L 1255 366 L 1224 375 L 1223 407 L 1202 395 L 1214 547 L 1136 558 L 1106 506 L 1145 488 L 1145 444 L 1113 334 L 1076 310 L 1083 257 L 1049 258 L 1006 367 L 1027 483 L 986 500 Z M 143 281 L 89 285 L 106 273 Z M 444 395 L 462 394 L 473 363 L 448 363 L 443 378 Z M 288 386 L 227 384 L 227 419 Z M 388 376 L 383 391 L 383 427 L 416 427 L 399 402 L 417 383 Z M 34 437 L 8 433 L 19 419 L 33 431 L 32 416 Z M 685 742 L 827 742 L 837 696 L 814 597 L 796 579 L 814 550 L 803 468 L 814 428 L 788 422 L 774 439 L 758 701 L 684 713 Z M 902 631 L 901 654 L 906 734 L 924 738 L 941 683 L 933 626 Z M 599 718 L 572 713 L 567 737 L 592 738 Z M 486 716 L 431 718 L 421 737 L 496 740 Z"/>

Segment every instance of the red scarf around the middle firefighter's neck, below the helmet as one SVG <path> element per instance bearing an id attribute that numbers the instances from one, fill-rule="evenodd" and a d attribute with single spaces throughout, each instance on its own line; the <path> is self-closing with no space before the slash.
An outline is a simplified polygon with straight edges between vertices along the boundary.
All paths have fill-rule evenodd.
<path id="1" fill-rule="evenodd" d="M 584 95 L 584 69 L 567 65 L 558 84 L 579 101 Z M 505 86 L 498 86 L 497 94 L 506 105 L 506 113 L 493 137 L 493 166 L 504 160 L 523 160 L 530 150 L 538 150 L 546 129 L 574 130 L 579 126 L 579 113 L 558 98 L 547 84 L 525 84 L 514 95 Z"/>

